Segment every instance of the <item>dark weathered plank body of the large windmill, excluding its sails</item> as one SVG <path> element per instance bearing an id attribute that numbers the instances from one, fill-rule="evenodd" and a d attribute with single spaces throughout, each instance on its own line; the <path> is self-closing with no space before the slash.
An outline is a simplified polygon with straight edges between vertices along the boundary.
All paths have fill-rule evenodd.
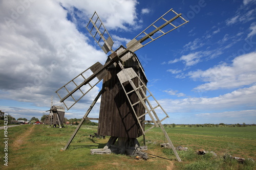
<path id="1" fill-rule="evenodd" d="M 124 47 L 121 46 L 116 52 L 120 53 L 123 50 Z M 143 68 L 134 53 L 127 53 L 121 60 L 125 68 L 132 67 L 143 83 L 147 83 Z M 116 64 L 111 65 L 107 70 L 108 75 L 103 79 L 98 134 L 104 136 L 137 138 L 143 133 L 116 76 L 120 70 L 120 67 Z M 139 80 L 137 78 L 133 79 L 133 82 L 136 86 L 139 86 Z M 127 82 L 124 83 L 124 87 L 126 91 L 132 90 L 131 85 Z M 139 101 L 135 92 L 130 93 L 129 96 L 132 103 Z M 137 116 L 145 113 L 145 108 L 141 103 L 137 104 L 134 108 Z M 144 117 L 141 118 L 141 120 L 144 119 Z"/>

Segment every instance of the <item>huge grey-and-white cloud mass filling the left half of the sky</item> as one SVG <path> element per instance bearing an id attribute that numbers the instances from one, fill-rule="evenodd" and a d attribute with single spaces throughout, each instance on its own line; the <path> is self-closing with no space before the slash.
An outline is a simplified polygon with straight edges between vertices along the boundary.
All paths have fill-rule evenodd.
<path id="1" fill-rule="evenodd" d="M 31 102 L 39 107 L 48 107 L 50 96 L 54 94 L 55 104 L 60 104 L 58 96 L 54 93 L 59 87 L 95 62 L 104 63 L 106 60 L 102 50 L 95 49 L 98 45 L 90 45 L 89 38 L 78 31 L 78 23 L 84 25 L 96 10 L 107 29 L 130 30 L 129 25 L 136 22 L 136 5 L 134 0 L 97 0 L 97 3 L 68 0 L 35 1 L 26 4 L 26 7 L 19 1 L 2 2 L 1 99 Z M 82 18 L 81 23 L 81 20 L 71 22 L 67 19 L 68 14 L 74 13 L 74 8 L 80 10 L 77 14 Z M 117 36 L 115 38 L 122 42 L 128 41 Z M 74 107 L 87 107 L 98 90 L 99 88 L 95 87 L 87 94 L 87 98 L 83 99 L 83 104 L 76 104 Z"/>

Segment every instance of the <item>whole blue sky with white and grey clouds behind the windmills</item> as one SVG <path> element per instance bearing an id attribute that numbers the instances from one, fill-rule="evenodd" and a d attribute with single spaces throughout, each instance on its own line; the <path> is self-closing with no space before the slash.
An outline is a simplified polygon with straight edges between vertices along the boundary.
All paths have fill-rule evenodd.
<path id="1" fill-rule="evenodd" d="M 255 0 L 1 0 L 0 110 L 40 119 L 51 95 L 61 105 L 57 89 L 105 63 L 110 53 L 85 28 L 94 11 L 116 50 L 173 8 L 189 22 L 135 52 L 148 89 L 170 116 L 163 124 L 255 124 L 255 7 Z M 65 117 L 82 118 L 101 85 Z M 98 117 L 99 106 L 89 117 Z"/>

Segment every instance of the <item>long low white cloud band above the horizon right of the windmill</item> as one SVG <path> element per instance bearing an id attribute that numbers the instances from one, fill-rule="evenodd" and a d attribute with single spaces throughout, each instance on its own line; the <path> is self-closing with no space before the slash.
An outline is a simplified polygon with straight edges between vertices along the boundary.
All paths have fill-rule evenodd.
<path id="1" fill-rule="evenodd" d="M 175 93 L 176 91 L 170 91 Z M 255 108 L 256 85 L 234 90 L 212 98 L 162 99 L 158 102 L 168 113 L 222 112 Z"/>

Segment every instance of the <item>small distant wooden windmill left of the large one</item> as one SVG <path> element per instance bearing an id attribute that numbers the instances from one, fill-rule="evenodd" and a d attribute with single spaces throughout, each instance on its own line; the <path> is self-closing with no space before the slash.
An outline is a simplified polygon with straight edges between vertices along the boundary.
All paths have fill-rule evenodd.
<path id="1" fill-rule="evenodd" d="M 50 114 L 46 116 L 45 124 L 48 124 L 49 126 L 53 125 L 53 128 L 56 128 L 56 125 L 59 126 L 59 128 L 64 127 L 65 122 L 65 107 L 62 106 L 55 106 L 53 105 L 53 95 L 51 96 L 51 108 L 50 110 L 47 110 L 46 112 L 50 111 Z"/>

